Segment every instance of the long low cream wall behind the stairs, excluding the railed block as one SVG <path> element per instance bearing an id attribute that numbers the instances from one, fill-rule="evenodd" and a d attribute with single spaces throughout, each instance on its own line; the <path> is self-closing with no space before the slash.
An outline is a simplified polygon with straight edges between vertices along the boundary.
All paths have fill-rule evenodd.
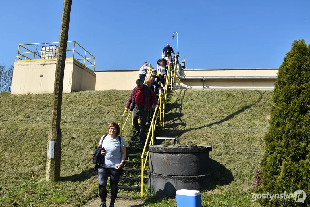
<path id="1" fill-rule="evenodd" d="M 139 70 L 96 71 L 96 90 L 131 90 L 136 86 Z M 181 75 L 191 76 L 277 76 L 277 69 L 186 69 Z M 212 80 L 181 81 L 176 78 L 175 89 L 224 89 L 224 88 L 258 88 L 273 89 L 274 80 Z"/>

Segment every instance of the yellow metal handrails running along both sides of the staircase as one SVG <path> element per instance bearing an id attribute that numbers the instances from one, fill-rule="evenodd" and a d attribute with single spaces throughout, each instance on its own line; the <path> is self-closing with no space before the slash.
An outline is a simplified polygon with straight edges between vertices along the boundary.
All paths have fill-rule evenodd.
<path id="1" fill-rule="evenodd" d="M 148 161 L 148 154 L 149 151 L 147 150 L 146 152 L 146 148 L 148 146 L 148 142 L 149 145 L 154 145 L 154 133 L 155 133 L 155 127 L 156 127 L 156 123 L 157 123 L 157 119 L 159 118 L 159 125 L 160 126 L 164 126 L 165 125 L 165 106 L 167 103 L 167 98 L 168 98 L 168 90 L 173 90 L 174 88 L 174 83 L 175 83 L 175 71 L 176 71 L 176 65 L 178 63 L 178 58 L 176 58 L 175 60 L 175 66 L 174 66 L 174 70 L 172 70 L 171 65 L 168 65 L 168 71 L 167 71 L 167 76 L 166 76 L 166 85 L 165 85 L 165 90 L 163 94 L 160 94 L 158 99 L 159 99 L 159 104 L 158 104 L 158 108 L 155 108 L 153 117 L 152 117 L 152 121 L 150 124 L 150 128 L 148 130 L 148 135 L 146 137 L 145 140 L 145 144 L 144 144 L 144 148 L 141 154 L 141 197 L 143 197 L 143 191 L 144 191 L 144 170 L 146 167 L 146 163 Z M 146 74 L 146 77 L 149 77 L 152 74 L 152 70 L 154 70 L 154 68 L 152 67 L 151 64 L 149 64 L 148 66 L 148 72 Z M 144 81 L 145 83 L 145 81 Z M 129 119 L 129 116 L 131 114 L 131 111 L 129 112 L 129 114 L 127 115 L 127 117 L 125 116 L 127 111 L 127 108 L 125 109 L 122 118 L 120 120 L 120 122 L 118 123 L 121 129 L 120 132 L 120 136 L 122 136 L 122 132 L 125 128 L 125 125 Z M 124 118 L 126 117 L 126 120 L 124 121 Z M 144 160 L 144 154 L 146 153 L 146 158 Z"/>

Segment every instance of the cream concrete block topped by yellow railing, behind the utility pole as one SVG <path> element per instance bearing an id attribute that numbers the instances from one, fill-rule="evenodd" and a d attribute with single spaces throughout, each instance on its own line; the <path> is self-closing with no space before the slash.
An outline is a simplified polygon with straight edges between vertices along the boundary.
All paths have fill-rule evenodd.
<path id="1" fill-rule="evenodd" d="M 95 74 L 76 62 L 73 59 L 65 62 L 63 92 L 95 90 Z M 15 62 L 11 94 L 53 93 L 55 70 L 56 60 Z"/>

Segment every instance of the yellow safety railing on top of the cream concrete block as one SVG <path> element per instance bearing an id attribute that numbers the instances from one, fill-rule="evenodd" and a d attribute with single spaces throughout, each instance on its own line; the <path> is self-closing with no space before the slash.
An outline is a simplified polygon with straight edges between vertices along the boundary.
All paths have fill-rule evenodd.
<path id="1" fill-rule="evenodd" d="M 39 51 L 37 48 L 38 46 L 42 47 L 42 49 Z M 55 49 L 53 46 L 55 46 Z M 47 47 L 48 48 L 52 47 L 52 50 L 47 49 Z M 55 58 L 57 58 L 57 52 L 58 52 L 57 48 L 58 48 L 58 42 L 19 44 L 17 56 L 15 57 L 15 62 L 34 61 L 34 60 L 36 61 L 55 60 Z M 72 51 L 72 53 L 70 53 L 69 51 Z M 29 55 L 31 55 L 31 57 Z M 66 58 L 73 58 L 79 61 L 87 68 L 91 67 L 93 69 L 92 71 L 95 72 L 96 58 L 86 49 L 84 49 L 84 47 L 82 47 L 75 41 L 68 41 Z"/>

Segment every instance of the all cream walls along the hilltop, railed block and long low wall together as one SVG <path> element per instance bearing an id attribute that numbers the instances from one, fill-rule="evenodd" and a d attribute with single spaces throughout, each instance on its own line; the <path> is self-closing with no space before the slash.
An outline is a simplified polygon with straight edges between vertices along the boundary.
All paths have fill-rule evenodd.
<path id="1" fill-rule="evenodd" d="M 56 61 L 20 61 L 14 63 L 12 94 L 53 93 Z M 277 76 L 277 69 L 185 69 L 185 77 Z M 43 77 L 40 77 L 43 76 Z M 93 73 L 74 59 L 65 63 L 63 92 L 82 90 L 131 90 L 139 70 L 96 71 Z M 273 89 L 275 80 L 205 80 L 187 81 L 176 78 L 175 89 L 249 88 Z"/>

